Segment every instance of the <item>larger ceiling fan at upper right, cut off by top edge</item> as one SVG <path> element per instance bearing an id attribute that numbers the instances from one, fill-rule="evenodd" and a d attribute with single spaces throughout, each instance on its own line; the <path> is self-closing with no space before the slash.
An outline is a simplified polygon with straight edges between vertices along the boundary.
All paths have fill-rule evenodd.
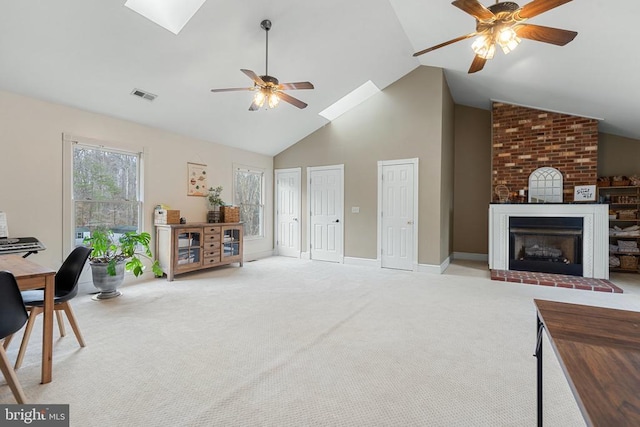
<path id="1" fill-rule="evenodd" d="M 475 73 L 482 70 L 488 59 L 493 58 L 496 44 L 502 48 L 505 54 L 518 46 L 521 41 L 520 38 L 564 46 L 573 40 L 578 33 L 559 28 L 525 24 L 525 21 L 570 1 L 533 0 L 522 7 L 510 1 L 496 1 L 496 4 L 484 7 L 478 0 L 455 0 L 451 3 L 452 5 L 476 18 L 476 30 L 416 52 L 413 56 L 419 56 L 455 42 L 478 36 L 471 45 L 476 55 L 469 68 L 469 73 Z"/>

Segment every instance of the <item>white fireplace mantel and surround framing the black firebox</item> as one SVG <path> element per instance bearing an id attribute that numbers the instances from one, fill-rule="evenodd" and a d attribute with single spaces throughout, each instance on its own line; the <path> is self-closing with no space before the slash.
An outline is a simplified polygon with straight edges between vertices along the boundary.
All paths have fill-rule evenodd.
<path id="1" fill-rule="evenodd" d="M 489 268 L 509 269 L 509 218 L 583 218 L 583 277 L 609 278 L 609 206 L 600 204 L 492 204 L 489 206 Z"/>

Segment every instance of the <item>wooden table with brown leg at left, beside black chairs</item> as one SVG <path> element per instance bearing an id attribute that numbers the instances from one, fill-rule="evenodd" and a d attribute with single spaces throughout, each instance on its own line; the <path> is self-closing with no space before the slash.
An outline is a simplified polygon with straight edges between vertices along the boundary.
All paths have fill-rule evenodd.
<path id="1" fill-rule="evenodd" d="M 44 324 L 42 329 L 42 384 L 51 382 L 53 359 L 53 297 L 55 270 L 43 267 L 19 255 L 0 255 L 0 270 L 16 277 L 20 290 L 44 288 Z"/>

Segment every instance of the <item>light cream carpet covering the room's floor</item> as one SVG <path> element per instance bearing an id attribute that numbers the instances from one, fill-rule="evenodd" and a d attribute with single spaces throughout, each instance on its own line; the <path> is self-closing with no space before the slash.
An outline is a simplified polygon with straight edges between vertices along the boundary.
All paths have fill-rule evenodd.
<path id="1" fill-rule="evenodd" d="M 87 347 L 56 329 L 41 385 L 36 329 L 18 376 L 82 427 L 531 426 L 533 299 L 640 311 L 638 277 L 612 281 L 625 293 L 492 281 L 478 262 L 432 275 L 272 257 L 80 295 Z M 544 364 L 545 425 L 584 425 L 546 341 Z"/>

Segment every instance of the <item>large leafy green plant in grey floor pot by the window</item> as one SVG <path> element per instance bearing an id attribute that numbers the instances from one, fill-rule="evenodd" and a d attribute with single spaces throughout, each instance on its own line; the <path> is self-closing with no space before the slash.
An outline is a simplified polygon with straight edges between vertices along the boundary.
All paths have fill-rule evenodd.
<path id="1" fill-rule="evenodd" d="M 116 239 L 113 231 L 98 228 L 84 239 L 84 244 L 93 249 L 89 255 L 93 285 L 100 290 L 96 299 L 120 296 L 118 287 L 124 280 L 124 272 L 131 271 L 138 277 L 144 270 L 142 258 L 151 260 L 149 242 L 151 235 L 146 232 L 129 231 Z M 151 266 L 156 276 L 163 272 L 155 260 Z"/>

